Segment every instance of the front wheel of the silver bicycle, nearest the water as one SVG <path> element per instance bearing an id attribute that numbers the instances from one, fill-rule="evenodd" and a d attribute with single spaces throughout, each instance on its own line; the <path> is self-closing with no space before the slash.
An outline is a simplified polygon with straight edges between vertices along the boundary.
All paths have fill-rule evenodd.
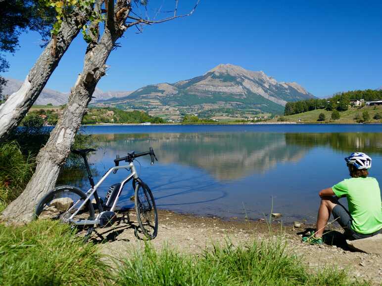
<path id="1" fill-rule="evenodd" d="M 144 236 L 152 240 L 158 234 L 158 212 L 150 188 L 138 179 L 135 185 L 135 210 Z"/>

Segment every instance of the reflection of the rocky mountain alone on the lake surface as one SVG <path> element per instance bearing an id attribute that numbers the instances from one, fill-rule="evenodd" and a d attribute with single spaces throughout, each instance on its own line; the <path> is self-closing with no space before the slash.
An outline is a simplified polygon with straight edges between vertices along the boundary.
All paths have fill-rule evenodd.
<path id="1" fill-rule="evenodd" d="M 152 146 L 161 163 L 207 171 L 219 180 L 263 173 L 278 162 L 298 161 L 308 148 L 287 144 L 282 133 L 151 133 L 93 135 L 114 154 Z"/>

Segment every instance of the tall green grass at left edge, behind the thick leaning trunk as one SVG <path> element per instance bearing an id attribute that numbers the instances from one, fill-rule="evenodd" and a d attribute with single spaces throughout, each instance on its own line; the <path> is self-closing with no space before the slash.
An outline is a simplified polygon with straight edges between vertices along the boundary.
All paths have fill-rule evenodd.
<path id="1" fill-rule="evenodd" d="M 0 145 L 0 212 L 24 190 L 35 165 L 35 157 L 23 155 L 16 141 Z"/>

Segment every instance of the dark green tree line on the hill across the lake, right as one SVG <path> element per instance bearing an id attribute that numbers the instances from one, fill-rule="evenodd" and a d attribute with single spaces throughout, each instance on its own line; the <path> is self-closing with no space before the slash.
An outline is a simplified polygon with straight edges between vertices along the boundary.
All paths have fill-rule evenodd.
<path id="1" fill-rule="evenodd" d="M 287 102 L 284 115 L 293 115 L 316 109 L 326 109 L 328 111 L 345 111 L 348 109 L 350 100 L 365 101 L 382 99 L 382 90 L 353 90 L 347 92 L 338 92 L 329 99 L 307 99 L 302 101 Z"/>

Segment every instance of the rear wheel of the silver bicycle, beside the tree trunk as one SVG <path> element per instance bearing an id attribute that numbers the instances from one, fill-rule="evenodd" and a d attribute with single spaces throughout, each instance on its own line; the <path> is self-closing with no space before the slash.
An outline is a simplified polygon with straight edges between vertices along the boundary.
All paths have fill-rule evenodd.
<path id="1" fill-rule="evenodd" d="M 67 200 L 61 201 L 57 204 L 57 199 Z M 85 200 L 87 197 L 84 192 L 80 189 L 73 186 L 59 186 L 48 192 L 36 205 L 35 215 L 36 219 L 51 219 L 51 220 L 63 220 L 63 218 L 68 218 L 69 214 L 74 213 L 77 208 L 71 209 L 70 213 L 67 213 L 68 209 L 70 209 L 73 205 L 80 206 L 81 202 Z M 69 200 L 68 200 L 69 199 Z M 54 202 L 54 200 L 56 200 Z M 72 201 L 72 203 L 70 202 Z M 78 204 L 75 204 L 78 202 Z M 87 205 L 84 207 L 82 211 L 80 211 L 74 219 L 82 220 L 82 219 L 94 219 L 94 207 L 90 200 L 88 200 Z M 87 240 L 93 232 L 94 225 L 74 225 L 77 230 L 80 232 L 86 231 L 84 238 Z"/>

